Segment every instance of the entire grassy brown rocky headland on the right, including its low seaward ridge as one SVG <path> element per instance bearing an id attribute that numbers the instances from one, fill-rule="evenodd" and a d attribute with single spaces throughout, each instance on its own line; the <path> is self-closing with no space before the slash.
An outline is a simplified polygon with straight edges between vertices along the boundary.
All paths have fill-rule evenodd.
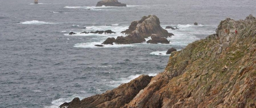
<path id="1" fill-rule="evenodd" d="M 237 33 L 235 33 L 237 31 Z M 256 108 L 256 19 L 227 18 L 216 34 L 171 52 L 165 70 L 61 108 Z"/>

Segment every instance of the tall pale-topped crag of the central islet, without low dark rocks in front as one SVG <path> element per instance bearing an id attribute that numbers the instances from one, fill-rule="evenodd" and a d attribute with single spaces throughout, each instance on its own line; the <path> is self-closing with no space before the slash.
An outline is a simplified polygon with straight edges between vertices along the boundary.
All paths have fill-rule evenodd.
<path id="1" fill-rule="evenodd" d="M 151 34 L 157 34 L 160 37 L 170 37 L 174 34 L 168 33 L 165 29 L 160 26 L 160 20 L 156 15 L 143 16 L 140 21 L 133 21 L 129 28 L 122 31 L 123 34 L 131 34 L 137 30 L 142 37 L 150 37 Z"/>

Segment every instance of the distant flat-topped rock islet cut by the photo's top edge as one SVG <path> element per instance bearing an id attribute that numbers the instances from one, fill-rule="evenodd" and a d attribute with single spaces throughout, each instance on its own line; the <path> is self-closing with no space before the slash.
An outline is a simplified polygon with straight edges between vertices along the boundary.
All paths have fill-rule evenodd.
<path id="1" fill-rule="evenodd" d="M 96 5 L 96 7 L 99 7 L 99 6 L 125 6 L 126 7 L 126 4 L 123 4 L 123 3 L 120 3 L 118 2 L 118 0 L 102 0 L 102 1 L 99 1 Z"/>

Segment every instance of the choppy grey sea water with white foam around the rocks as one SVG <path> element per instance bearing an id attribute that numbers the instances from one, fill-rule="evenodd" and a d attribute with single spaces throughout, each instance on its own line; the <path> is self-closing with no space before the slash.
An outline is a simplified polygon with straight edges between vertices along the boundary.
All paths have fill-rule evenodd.
<path id="1" fill-rule="evenodd" d="M 119 0 L 127 7 L 95 7 L 96 0 L 33 2 L 0 0 L 0 108 L 57 108 L 141 74 L 154 76 L 164 70 L 169 48 L 213 34 L 226 17 L 256 16 L 255 0 Z M 120 32 L 131 21 L 150 14 L 163 28 L 180 28 L 168 30 L 175 34 L 168 38 L 172 43 L 94 46 L 124 36 Z M 68 35 L 109 29 L 117 34 Z"/>

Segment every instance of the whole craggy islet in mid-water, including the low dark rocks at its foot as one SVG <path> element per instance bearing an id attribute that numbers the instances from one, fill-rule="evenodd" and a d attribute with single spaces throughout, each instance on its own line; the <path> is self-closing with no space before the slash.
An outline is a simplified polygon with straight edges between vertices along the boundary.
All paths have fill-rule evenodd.
<path id="1" fill-rule="evenodd" d="M 166 37 L 171 37 L 174 34 L 168 33 L 165 29 L 160 26 L 160 20 L 156 15 L 143 16 L 139 21 L 131 22 L 128 29 L 121 32 L 122 34 L 128 34 L 128 36 L 120 36 L 116 39 L 108 38 L 102 44 L 132 44 L 132 43 L 142 43 L 145 42 L 145 38 L 151 36 L 152 40 L 147 43 L 165 43 L 168 44 L 169 41 Z"/>

